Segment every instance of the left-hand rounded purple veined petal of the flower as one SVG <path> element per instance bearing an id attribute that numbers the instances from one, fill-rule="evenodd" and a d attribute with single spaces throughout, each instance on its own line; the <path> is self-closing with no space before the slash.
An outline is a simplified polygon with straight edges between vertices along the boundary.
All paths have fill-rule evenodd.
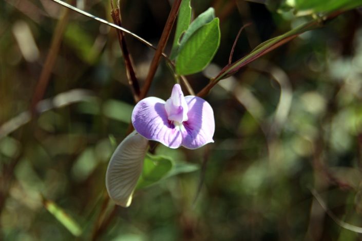
<path id="1" fill-rule="evenodd" d="M 163 99 L 147 97 L 137 103 L 132 112 L 132 124 L 146 139 L 157 140 L 170 148 L 181 145 L 180 128 L 168 120 Z"/>

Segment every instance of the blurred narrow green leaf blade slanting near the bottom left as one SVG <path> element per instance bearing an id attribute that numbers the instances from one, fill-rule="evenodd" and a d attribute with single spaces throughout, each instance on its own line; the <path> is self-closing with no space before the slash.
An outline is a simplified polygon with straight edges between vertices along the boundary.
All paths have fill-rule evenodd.
<path id="1" fill-rule="evenodd" d="M 81 235 L 81 227 L 67 213 L 65 213 L 62 208 L 44 197 L 43 205 L 74 236 L 78 237 Z"/>

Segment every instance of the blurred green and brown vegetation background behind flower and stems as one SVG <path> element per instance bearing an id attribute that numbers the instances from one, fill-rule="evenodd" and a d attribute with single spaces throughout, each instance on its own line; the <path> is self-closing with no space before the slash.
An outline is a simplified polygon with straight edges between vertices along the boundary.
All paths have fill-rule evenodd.
<path id="1" fill-rule="evenodd" d="M 111 22 L 109 1 L 71 2 Z M 313 17 L 255 2 L 265 1 L 192 2 L 194 16 L 214 7 L 221 28 L 212 65 L 187 76 L 195 92 L 227 64 L 243 25 L 252 23 L 234 59 Z M 156 46 L 170 5 L 123 0 L 123 26 Z M 113 209 L 105 172 L 134 106 L 116 31 L 50 0 L 2 1 L 0 239 L 361 239 L 312 194 L 335 218 L 362 226 L 361 20 L 360 9 L 350 10 L 221 81 L 205 97 L 215 112 L 215 143 L 159 145 L 156 154 L 192 168 Z M 57 38 L 40 95 L 46 100 L 34 106 Z M 126 41 L 142 87 L 154 50 Z M 174 83 L 162 61 L 148 96 L 167 99 Z"/>

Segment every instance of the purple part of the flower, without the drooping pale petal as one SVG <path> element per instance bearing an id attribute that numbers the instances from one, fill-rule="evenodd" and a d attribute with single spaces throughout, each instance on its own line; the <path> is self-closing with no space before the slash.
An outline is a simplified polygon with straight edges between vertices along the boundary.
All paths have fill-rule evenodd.
<path id="1" fill-rule="evenodd" d="M 176 84 L 167 101 L 157 97 L 142 99 L 132 112 L 136 131 L 149 140 L 170 148 L 196 149 L 214 142 L 214 112 L 202 98 L 183 96 Z"/>

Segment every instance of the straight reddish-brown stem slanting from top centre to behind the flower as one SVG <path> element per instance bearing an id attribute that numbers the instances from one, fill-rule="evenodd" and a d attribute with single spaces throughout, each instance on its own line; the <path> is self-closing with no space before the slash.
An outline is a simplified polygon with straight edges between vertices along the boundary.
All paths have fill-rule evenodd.
<path id="1" fill-rule="evenodd" d="M 160 63 L 160 60 L 161 60 L 163 49 L 166 46 L 167 39 L 168 39 L 169 34 L 170 34 L 171 30 L 172 30 L 172 26 L 175 23 L 175 19 L 176 19 L 176 16 L 177 16 L 177 12 L 179 11 L 180 4 L 181 4 L 181 0 L 175 0 L 174 4 L 172 6 L 172 9 L 171 9 L 171 11 L 170 11 L 170 13 L 168 15 L 166 25 L 165 25 L 165 27 L 163 29 L 163 32 L 162 32 L 162 35 L 161 35 L 161 38 L 160 38 L 160 42 L 159 42 L 159 44 L 157 46 L 157 49 L 156 49 L 156 53 L 154 55 L 154 58 L 152 59 L 151 66 L 149 67 L 149 71 L 148 71 L 148 74 L 147 74 L 147 77 L 146 77 L 146 80 L 145 80 L 145 84 L 144 84 L 144 86 L 142 88 L 142 91 L 141 91 L 141 94 L 140 94 L 140 99 L 143 99 L 144 97 L 146 97 L 146 94 L 147 94 L 147 92 L 149 90 L 149 87 L 151 86 L 151 83 L 152 83 L 152 81 L 154 79 L 157 67 L 158 67 L 158 65 Z"/>

